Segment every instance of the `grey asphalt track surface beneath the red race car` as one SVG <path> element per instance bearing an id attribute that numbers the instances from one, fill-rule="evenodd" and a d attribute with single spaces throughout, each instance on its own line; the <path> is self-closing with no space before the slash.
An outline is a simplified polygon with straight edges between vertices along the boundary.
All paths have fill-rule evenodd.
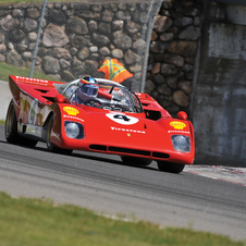
<path id="1" fill-rule="evenodd" d="M 0 190 L 13 197 L 51 198 L 106 216 L 125 214 L 160 226 L 246 238 L 246 186 L 199 176 L 124 165 L 118 156 L 72 156 L 10 145 L 0 125 Z"/>

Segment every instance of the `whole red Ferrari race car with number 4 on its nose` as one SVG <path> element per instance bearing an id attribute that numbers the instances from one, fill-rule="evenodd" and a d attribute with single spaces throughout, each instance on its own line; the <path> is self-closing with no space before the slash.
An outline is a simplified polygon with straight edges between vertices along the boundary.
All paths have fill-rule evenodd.
<path id="1" fill-rule="evenodd" d="M 133 165 L 157 161 L 180 173 L 195 158 L 194 130 L 185 112 L 174 119 L 147 94 L 121 84 L 84 77 L 71 83 L 9 76 L 12 93 L 5 139 L 49 151 L 119 155 Z"/>

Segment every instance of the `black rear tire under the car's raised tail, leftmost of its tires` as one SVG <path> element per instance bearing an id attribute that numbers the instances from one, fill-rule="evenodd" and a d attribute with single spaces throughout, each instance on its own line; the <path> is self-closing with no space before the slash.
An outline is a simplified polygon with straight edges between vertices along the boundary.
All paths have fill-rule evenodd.
<path id="1" fill-rule="evenodd" d="M 4 134 L 5 134 L 7 142 L 10 144 L 35 147 L 38 143 L 37 140 L 28 139 L 19 135 L 17 119 L 16 119 L 13 99 L 10 101 L 10 104 L 7 111 Z"/>

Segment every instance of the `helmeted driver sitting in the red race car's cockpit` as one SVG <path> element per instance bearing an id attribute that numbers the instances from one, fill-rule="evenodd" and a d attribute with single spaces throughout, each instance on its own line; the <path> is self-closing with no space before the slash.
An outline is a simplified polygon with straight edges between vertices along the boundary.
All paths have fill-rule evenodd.
<path id="1" fill-rule="evenodd" d="M 99 85 L 93 77 L 83 77 L 78 82 L 77 98 L 79 103 L 84 103 L 88 99 L 95 99 L 98 94 Z"/>

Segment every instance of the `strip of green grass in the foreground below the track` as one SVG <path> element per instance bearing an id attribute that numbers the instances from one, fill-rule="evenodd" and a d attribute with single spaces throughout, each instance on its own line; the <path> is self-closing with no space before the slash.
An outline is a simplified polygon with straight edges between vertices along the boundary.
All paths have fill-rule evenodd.
<path id="1" fill-rule="evenodd" d="M 1 246 L 244 246 L 229 237 L 190 229 L 160 229 L 145 221 L 124 222 L 52 200 L 12 198 L 0 193 Z"/>

